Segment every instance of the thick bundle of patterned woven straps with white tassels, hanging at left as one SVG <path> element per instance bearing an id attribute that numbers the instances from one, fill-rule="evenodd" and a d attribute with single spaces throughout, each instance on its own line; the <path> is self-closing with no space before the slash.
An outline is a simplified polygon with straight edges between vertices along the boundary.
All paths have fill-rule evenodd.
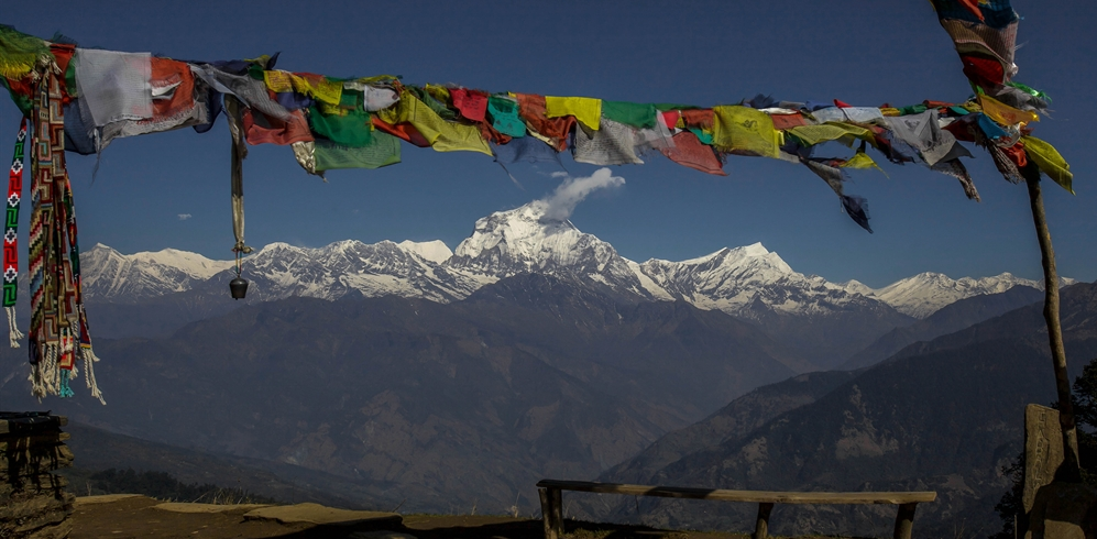
<path id="1" fill-rule="evenodd" d="M 55 66 L 53 66 L 55 67 Z M 87 315 L 80 293 L 73 189 L 65 168 L 65 116 L 59 69 L 39 80 L 31 154 L 31 385 L 32 394 L 72 396 L 77 356 L 84 360 L 91 396 L 106 404 L 96 383 Z"/>

